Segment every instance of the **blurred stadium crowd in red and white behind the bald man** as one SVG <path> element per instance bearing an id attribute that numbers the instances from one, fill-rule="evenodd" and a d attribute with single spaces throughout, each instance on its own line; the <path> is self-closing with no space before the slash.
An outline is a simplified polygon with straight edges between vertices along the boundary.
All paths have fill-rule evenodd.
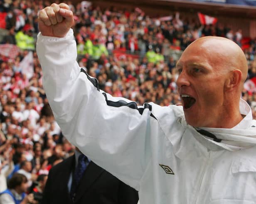
<path id="1" fill-rule="evenodd" d="M 58 3 L 58 1 L 56 1 Z M 90 2 L 76 6 L 74 38 L 78 62 L 100 89 L 136 101 L 153 101 L 161 106 L 179 104 L 175 64 L 180 53 L 202 36 L 223 36 L 241 45 L 242 31 L 216 25 L 200 25 L 179 13 L 150 18 L 134 10 L 93 7 Z M 0 55 L 0 192 L 14 173 L 22 173 L 30 191 L 39 185 L 55 164 L 74 153 L 54 120 L 42 86 L 42 70 L 35 52 L 37 14 L 48 1 L 0 0 L 5 13 L 2 44 L 19 48 L 17 56 Z M 20 67 L 32 52 L 34 72 L 28 76 Z M 116 53 L 121 53 L 116 55 Z M 248 79 L 256 77 L 256 40 L 244 50 L 249 65 Z M 251 105 L 256 119 L 256 91 L 247 87 L 242 98 Z M 41 184 L 42 187 L 42 184 Z"/>

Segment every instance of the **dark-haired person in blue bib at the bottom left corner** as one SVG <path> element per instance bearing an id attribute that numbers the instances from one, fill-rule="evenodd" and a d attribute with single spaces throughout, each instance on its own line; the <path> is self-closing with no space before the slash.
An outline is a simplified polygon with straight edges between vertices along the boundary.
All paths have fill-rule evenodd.
<path id="1" fill-rule="evenodd" d="M 33 194 L 26 194 L 28 183 L 25 175 L 15 173 L 8 182 L 7 190 L 0 192 L 0 204 L 37 204 Z"/>

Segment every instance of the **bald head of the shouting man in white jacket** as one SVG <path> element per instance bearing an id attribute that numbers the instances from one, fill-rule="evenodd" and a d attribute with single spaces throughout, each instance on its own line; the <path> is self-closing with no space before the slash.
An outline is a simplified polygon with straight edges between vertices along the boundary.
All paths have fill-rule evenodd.
<path id="1" fill-rule="evenodd" d="M 182 53 L 177 69 L 177 86 L 188 124 L 222 127 L 222 118 L 239 113 L 248 67 L 236 43 L 222 37 L 199 38 Z M 234 107 L 236 110 L 231 110 Z"/>

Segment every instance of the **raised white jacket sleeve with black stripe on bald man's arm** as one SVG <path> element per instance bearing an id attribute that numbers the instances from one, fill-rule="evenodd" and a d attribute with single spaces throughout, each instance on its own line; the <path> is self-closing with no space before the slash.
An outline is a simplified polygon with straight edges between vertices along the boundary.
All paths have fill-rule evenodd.
<path id="1" fill-rule="evenodd" d="M 64 136 L 120 180 L 138 188 L 150 159 L 151 105 L 112 97 L 76 62 L 73 31 L 64 38 L 38 34 L 43 84 Z M 150 116 L 151 115 L 151 116 Z"/>

